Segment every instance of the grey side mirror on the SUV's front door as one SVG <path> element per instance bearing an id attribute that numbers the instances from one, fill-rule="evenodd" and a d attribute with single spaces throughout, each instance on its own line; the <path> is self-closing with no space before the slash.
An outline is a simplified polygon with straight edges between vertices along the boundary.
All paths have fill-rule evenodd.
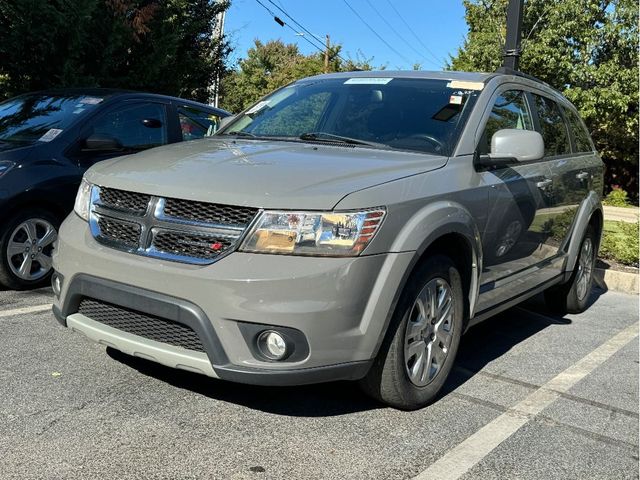
<path id="1" fill-rule="evenodd" d="M 532 130 L 505 128 L 491 137 L 491 153 L 481 155 L 478 163 L 484 167 L 506 166 L 513 162 L 530 162 L 544 157 L 542 135 Z"/>

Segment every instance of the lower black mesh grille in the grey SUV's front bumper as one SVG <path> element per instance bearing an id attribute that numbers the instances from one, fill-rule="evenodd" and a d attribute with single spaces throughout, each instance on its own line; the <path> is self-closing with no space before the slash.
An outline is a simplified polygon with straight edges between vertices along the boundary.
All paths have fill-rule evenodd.
<path id="1" fill-rule="evenodd" d="M 182 323 L 88 297 L 80 301 L 78 312 L 132 335 L 196 352 L 205 351 L 196 332 Z"/>

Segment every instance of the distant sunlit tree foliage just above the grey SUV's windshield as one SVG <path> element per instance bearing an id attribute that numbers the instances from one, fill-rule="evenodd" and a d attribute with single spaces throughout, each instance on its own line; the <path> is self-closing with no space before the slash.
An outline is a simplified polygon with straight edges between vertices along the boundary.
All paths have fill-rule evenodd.
<path id="1" fill-rule="evenodd" d="M 343 61 L 336 46 L 329 53 L 329 71 L 371 70 L 371 59 Z M 240 60 L 238 69 L 230 72 L 222 84 L 222 107 L 240 112 L 267 93 L 294 80 L 324 73 L 321 53 L 303 55 L 295 44 L 271 40 L 255 45 Z"/>

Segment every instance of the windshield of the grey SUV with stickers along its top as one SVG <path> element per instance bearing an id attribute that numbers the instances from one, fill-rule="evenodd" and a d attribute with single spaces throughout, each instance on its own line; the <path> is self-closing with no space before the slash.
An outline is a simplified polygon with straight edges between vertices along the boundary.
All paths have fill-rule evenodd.
<path id="1" fill-rule="evenodd" d="M 477 91 L 448 80 L 302 81 L 254 104 L 223 135 L 362 144 L 448 155 Z"/>

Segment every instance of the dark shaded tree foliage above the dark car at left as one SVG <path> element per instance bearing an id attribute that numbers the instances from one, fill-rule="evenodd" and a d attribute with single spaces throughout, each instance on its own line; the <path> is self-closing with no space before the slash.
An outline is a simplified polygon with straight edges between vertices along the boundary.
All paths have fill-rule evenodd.
<path id="1" fill-rule="evenodd" d="M 0 98 L 52 87 L 145 90 L 206 101 L 228 44 L 212 40 L 228 2 L 0 2 Z"/>

